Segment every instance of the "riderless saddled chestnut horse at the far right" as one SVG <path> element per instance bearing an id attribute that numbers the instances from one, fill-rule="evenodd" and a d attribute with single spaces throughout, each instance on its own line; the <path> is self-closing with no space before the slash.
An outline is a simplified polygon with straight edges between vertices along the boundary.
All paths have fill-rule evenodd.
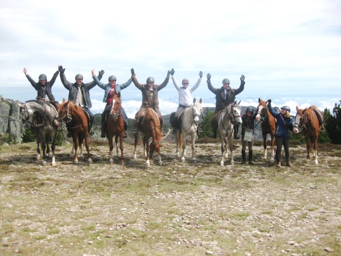
<path id="1" fill-rule="evenodd" d="M 300 131 L 303 132 L 303 137 L 305 138 L 307 159 L 310 158 L 309 151 L 313 150 L 313 157 L 315 157 L 315 164 L 318 164 L 317 160 L 317 147 L 318 138 L 320 136 L 320 123 L 319 118 L 314 110 L 318 111 L 318 108 L 314 105 L 309 108 L 299 109 L 296 106 L 297 114 L 295 116 L 295 123 L 293 132 L 298 134 Z"/>

